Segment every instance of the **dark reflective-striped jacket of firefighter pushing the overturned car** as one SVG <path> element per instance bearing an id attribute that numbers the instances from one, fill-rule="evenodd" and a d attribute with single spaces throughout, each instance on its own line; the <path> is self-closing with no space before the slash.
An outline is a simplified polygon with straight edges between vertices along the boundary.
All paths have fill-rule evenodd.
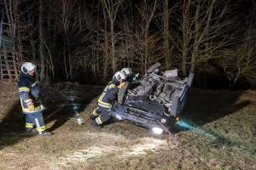
<path id="1" fill-rule="evenodd" d="M 119 88 L 115 82 L 108 82 L 106 88 L 104 88 L 101 97 L 98 99 L 98 105 L 104 108 L 111 108 L 113 101 L 117 100 Z"/>

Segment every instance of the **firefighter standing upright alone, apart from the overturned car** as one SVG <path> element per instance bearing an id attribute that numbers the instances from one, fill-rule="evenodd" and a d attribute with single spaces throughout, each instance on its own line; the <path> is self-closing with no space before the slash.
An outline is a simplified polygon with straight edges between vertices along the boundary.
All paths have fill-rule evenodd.
<path id="1" fill-rule="evenodd" d="M 26 116 L 26 133 L 32 133 L 36 127 L 37 134 L 49 136 L 52 133 L 45 131 L 43 111 L 45 110 L 39 99 L 38 81 L 36 81 L 36 65 L 25 62 L 21 65 L 20 79 L 18 82 L 20 104 Z"/>

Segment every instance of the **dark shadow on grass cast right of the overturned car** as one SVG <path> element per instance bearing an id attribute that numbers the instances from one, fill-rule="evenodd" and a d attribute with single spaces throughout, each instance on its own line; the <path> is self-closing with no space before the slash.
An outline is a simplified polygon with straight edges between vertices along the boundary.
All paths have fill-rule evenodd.
<path id="1" fill-rule="evenodd" d="M 218 120 L 250 105 L 250 100 L 240 100 L 242 91 L 192 89 L 183 115 L 198 126 Z"/>

